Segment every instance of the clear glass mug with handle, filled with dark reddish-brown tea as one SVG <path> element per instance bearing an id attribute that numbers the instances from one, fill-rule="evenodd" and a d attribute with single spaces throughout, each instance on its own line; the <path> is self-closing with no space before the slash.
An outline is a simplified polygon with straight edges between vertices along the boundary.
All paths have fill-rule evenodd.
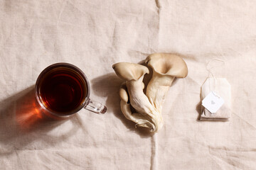
<path id="1" fill-rule="evenodd" d="M 52 64 L 36 80 L 36 99 L 40 106 L 56 116 L 68 116 L 82 108 L 105 113 L 106 106 L 90 99 L 90 84 L 85 74 L 73 64 Z"/>

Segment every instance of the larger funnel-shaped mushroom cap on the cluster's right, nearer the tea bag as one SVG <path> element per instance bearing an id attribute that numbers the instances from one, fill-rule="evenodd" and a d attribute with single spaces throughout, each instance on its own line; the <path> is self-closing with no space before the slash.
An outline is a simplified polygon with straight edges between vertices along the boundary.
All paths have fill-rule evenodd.
<path id="1" fill-rule="evenodd" d="M 154 72 L 161 75 L 169 75 L 177 78 L 184 78 L 188 75 L 186 62 L 178 55 L 154 53 L 146 57 L 146 64 L 154 69 Z"/>

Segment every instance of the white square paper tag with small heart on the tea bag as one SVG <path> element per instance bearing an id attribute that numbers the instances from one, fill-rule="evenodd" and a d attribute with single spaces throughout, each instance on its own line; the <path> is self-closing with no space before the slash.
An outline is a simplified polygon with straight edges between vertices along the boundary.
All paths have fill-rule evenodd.
<path id="1" fill-rule="evenodd" d="M 205 107 L 210 113 L 216 113 L 221 106 L 223 106 L 224 100 L 214 91 L 210 91 L 210 93 L 203 98 L 202 105 Z"/>

